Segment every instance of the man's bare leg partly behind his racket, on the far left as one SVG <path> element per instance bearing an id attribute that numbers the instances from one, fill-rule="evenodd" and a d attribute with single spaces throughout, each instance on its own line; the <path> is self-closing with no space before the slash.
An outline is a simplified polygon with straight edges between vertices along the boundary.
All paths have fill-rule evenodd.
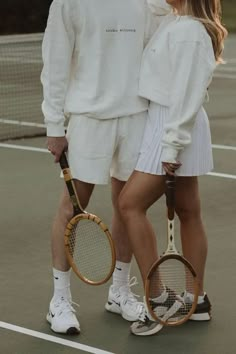
<path id="1" fill-rule="evenodd" d="M 79 195 L 80 203 L 83 208 L 88 205 L 90 196 L 93 192 L 94 185 L 76 180 L 75 186 Z M 53 267 L 57 270 L 66 272 L 70 269 L 69 263 L 65 255 L 64 233 L 69 220 L 73 216 L 73 208 L 66 187 L 64 187 L 57 214 L 55 216 L 52 237 L 51 250 Z"/>

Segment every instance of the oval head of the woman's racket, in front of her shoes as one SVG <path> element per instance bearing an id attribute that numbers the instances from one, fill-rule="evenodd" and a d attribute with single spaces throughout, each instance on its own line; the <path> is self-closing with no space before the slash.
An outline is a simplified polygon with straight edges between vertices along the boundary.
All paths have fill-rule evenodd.
<path id="1" fill-rule="evenodd" d="M 186 290 L 193 294 L 193 302 L 185 301 Z M 167 299 L 162 299 L 161 303 L 153 301 L 162 291 L 168 295 Z M 177 326 L 186 322 L 196 309 L 198 294 L 196 272 L 180 255 L 162 256 L 148 272 L 145 283 L 146 305 L 152 318 L 165 326 Z"/>

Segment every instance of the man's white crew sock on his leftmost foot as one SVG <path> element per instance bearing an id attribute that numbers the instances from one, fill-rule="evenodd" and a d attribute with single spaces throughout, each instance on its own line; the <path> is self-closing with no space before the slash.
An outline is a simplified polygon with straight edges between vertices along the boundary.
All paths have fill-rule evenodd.
<path id="1" fill-rule="evenodd" d="M 54 294 L 53 299 L 64 297 L 71 301 L 70 292 L 70 274 L 71 269 L 67 272 L 62 272 L 53 268 Z"/>

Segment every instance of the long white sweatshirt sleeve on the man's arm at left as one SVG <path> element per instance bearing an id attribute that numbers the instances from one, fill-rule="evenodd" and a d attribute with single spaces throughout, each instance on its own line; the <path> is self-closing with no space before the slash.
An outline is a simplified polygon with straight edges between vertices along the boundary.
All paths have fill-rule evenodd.
<path id="1" fill-rule="evenodd" d="M 42 45 L 42 110 L 49 137 L 65 135 L 64 103 L 75 40 L 68 3 L 64 0 L 53 1 Z"/>

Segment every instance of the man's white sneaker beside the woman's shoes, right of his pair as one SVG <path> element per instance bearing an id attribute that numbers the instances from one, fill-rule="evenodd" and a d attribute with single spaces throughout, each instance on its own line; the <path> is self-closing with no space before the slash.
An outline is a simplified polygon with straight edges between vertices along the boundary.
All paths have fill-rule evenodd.
<path id="1" fill-rule="evenodd" d="M 121 315 L 127 321 L 137 321 L 143 311 L 143 303 L 137 301 L 137 295 L 130 290 L 131 286 L 136 284 L 137 279 L 133 277 L 128 285 L 120 288 L 111 285 L 105 309 Z"/>

